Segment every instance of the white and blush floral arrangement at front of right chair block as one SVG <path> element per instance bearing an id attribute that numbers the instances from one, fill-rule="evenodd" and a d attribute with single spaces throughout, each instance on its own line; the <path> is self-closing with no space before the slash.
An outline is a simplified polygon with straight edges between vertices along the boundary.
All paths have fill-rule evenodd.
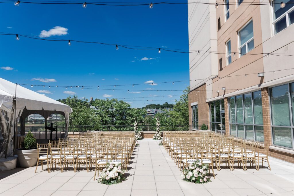
<path id="1" fill-rule="evenodd" d="M 210 182 L 211 180 L 207 177 L 206 173 L 208 173 L 208 164 L 202 164 L 197 159 L 184 170 L 184 180 L 197 184 Z"/>

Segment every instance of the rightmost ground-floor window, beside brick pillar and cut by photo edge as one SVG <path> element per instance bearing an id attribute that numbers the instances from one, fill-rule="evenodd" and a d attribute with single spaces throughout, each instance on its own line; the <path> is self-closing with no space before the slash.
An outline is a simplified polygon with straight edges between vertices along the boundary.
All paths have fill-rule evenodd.
<path id="1" fill-rule="evenodd" d="M 293 149 L 294 82 L 270 88 L 273 144 Z"/>

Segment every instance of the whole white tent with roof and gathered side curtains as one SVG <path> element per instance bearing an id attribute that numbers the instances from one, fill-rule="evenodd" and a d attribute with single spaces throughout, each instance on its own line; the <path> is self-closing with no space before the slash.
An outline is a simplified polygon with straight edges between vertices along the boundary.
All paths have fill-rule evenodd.
<path id="1" fill-rule="evenodd" d="M 16 111 L 14 111 L 15 107 Z M 24 118 L 31 113 L 39 113 L 45 119 L 53 113 L 64 115 L 66 120 L 64 137 L 67 137 L 69 113 L 71 113 L 68 105 L 0 78 L 0 131 L 4 138 L 4 142 L 0 145 L 0 158 L 12 154 L 12 138 L 16 130 L 14 125 L 17 125 L 19 120 L 23 121 L 21 124 L 24 125 Z M 22 128 L 24 129 L 24 126 Z"/>

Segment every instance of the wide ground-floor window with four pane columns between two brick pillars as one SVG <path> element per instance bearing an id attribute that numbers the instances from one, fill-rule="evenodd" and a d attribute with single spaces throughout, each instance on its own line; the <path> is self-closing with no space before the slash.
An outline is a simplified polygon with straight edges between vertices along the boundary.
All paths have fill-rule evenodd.
<path id="1" fill-rule="evenodd" d="M 230 135 L 263 142 L 261 91 L 229 98 Z"/>

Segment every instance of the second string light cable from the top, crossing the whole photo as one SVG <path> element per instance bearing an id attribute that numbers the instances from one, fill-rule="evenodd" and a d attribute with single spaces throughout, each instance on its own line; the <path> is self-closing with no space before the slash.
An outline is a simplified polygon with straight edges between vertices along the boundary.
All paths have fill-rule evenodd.
<path id="1" fill-rule="evenodd" d="M 161 51 L 168 51 L 168 52 L 176 52 L 176 53 L 195 53 L 197 52 L 198 54 L 200 52 L 204 53 L 212 53 L 212 54 L 240 54 L 244 56 L 249 56 L 249 55 L 266 55 L 267 57 L 269 55 L 273 56 L 294 56 L 294 54 L 288 54 L 288 53 L 239 53 L 239 52 L 218 52 L 218 51 L 204 51 L 204 50 L 195 50 L 195 51 L 179 51 L 183 49 L 166 49 L 166 48 L 156 48 L 156 47 L 146 47 L 146 46 L 130 46 L 130 45 L 121 45 L 121 44 L 115 44 L 115 43 L 102 43 L 102 42 L 95 42 L 95 41 L 80 41 L 80 40 L 72 40 L 72 39 L 59 39 L 59 38 L 44 38 L 40 36 L 29 36 L 29 35 L 22 35 L 22 34 L 16 34 L 16 33 L 4 33 L 0 32 L 0 35 L 6 35 L 6 36 L 16 36 L 16 40 L 20 40 L 20 37 L 26 37 L 26 38 L 31 38 L 31 39 L 36 39 L 36 40 L 43 40 L 43 41 L 58 41 L 58 42 L 67 42 L 69 46 L 72 45 L 72 42 L 78 42 L 78 43 L 95 43 L 95 44 L 101 44 L 101 45 L 107 45 L 107 46 L 114 46 L 116 50 L 118 50 L 118 46 L 121 46 L 126 49 L 132 49 L 132 50 L 158 50 L 158 53 L 161 53 Z"/>

